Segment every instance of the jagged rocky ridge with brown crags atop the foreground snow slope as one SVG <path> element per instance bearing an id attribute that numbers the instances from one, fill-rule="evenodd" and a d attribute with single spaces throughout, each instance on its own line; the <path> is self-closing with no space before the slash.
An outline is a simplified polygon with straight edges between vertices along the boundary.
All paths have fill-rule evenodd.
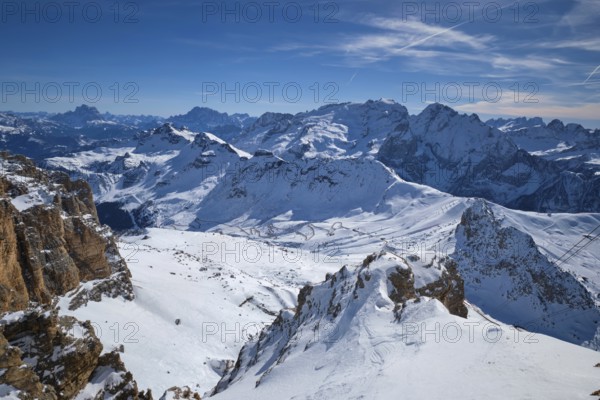
<path id="1" fill-rule="evenodd" d="M 272 325 L 242 348 L 214 393 L 242 379 L 255 365 L 259 373 L 248 379 L 256 379 L 259 386 L 288 356 L 303 352 L 302 346 L 304 351 L 313 346 L 329 349 L 347 341 L 359 347 L 361 337 L 375 337 L 374 330 L 381 328 L 370 326 L 370 317 L 381 317 L 385 329 L 394 330 L 392 324 L 400 327 L 409 304 L 437 303 L 446 313 L 466 317 L 463 301 L 463 282 L 449 259 L 425 264 L 418 257 L 404 259 L 387 252 L 370 255 L 353 271 L 344 266 L 325 282 L 305 286 L 296 309 L 282 310 Z M 389 319 L 386 312 L 394 318 Z"/>

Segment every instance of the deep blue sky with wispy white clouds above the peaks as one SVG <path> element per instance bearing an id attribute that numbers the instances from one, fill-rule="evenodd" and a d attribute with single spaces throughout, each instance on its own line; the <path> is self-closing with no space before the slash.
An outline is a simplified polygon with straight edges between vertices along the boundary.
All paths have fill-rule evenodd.
<path id="1" fill-rule="evenodd" d="M 598 0 L 0 7 L 3 110 L 259 115 L 385 97 L 600 127 Z"/>

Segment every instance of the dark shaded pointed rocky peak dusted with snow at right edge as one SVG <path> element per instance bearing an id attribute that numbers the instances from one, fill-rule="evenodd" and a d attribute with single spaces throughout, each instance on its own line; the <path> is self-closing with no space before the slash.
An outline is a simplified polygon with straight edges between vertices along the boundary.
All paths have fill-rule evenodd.
<path id="1" fill-rule="evenodd" d="M 531 236 L 502 226 L 485 201 L 463 213 L 452 258 L 466 297 L 494 318 L 576 344 L 594 338 L 600 311 L 592 295 L 540 253 Z"/>

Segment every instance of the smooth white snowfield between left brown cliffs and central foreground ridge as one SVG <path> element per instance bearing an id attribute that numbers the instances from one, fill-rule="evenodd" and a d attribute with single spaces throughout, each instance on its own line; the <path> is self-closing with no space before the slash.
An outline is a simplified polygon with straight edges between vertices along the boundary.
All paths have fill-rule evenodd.
<path id="1" fill-rule="evenodd" d="M 158 395 L 173 385 L 210 390 L 250 336 L 294 306 L 299 287 L 339 268 L 315 268 L 309 252 L 292 257 L 278 245 L 172 229 L 124 238 L 120 251 L 133 301 L 104 298 L 71 311 L 67 295 L 59 306 L 91 320 L 105 351 L 124 345 L 127 368 Z"/>

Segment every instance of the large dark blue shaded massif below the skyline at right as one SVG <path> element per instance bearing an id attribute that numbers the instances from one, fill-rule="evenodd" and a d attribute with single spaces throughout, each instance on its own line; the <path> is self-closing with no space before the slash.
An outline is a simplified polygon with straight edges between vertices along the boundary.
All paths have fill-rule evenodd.
<path id="1" fill-rule="evenodd" d="M 404 179 L 520 210 L 600 210 L 600 174 L 519 149 L 476 115 L 432 104 L 390 135 L 378 158 Z"/>

